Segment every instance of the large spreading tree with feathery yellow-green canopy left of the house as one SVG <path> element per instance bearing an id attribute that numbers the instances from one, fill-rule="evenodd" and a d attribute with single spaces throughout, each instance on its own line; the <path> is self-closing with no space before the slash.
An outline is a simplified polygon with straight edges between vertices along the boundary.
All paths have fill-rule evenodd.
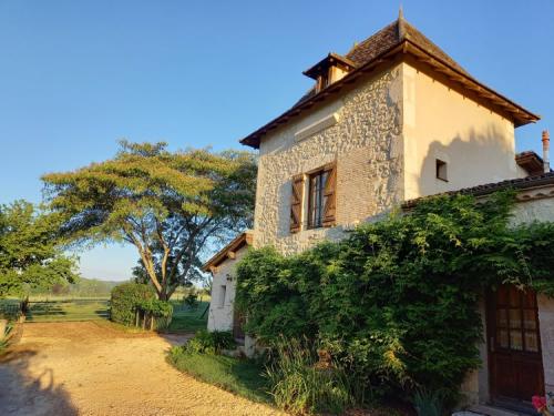
<path id="1" fill-rule="evenodd" d="M 161 300 L 198 272 L 199 255 L 252 225 L 256 163 L 247 152 L 170 152 L 121 142 L 115 158 L 43 177 L 76 243 L 133 244 Z"/>

